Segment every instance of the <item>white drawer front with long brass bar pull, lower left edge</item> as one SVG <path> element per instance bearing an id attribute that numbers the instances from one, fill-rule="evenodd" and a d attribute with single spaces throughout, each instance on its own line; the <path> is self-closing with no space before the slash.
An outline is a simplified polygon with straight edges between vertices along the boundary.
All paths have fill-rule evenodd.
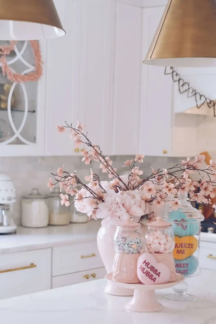
<path id="1" fill-rule="evenodd" d="M 0 299 L 50 288 L 51 249 L 1 255 Z"/>

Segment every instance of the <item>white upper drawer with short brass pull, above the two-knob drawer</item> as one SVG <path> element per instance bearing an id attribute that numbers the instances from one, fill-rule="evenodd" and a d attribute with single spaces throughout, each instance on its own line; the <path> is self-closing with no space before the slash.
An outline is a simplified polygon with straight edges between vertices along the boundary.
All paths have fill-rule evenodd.
<path id="1" fill-rule="evenodd" d="M 52 276 L 103 266 L 96 242 L 53 248 Z"/>

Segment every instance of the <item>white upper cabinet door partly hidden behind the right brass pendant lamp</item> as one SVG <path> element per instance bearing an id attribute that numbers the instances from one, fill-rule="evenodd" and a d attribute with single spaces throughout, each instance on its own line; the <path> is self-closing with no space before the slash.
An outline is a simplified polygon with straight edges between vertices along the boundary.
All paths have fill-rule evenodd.
<path id="1" fill-rule="evenodd" d="M 143 48 L 145 59 L 165 7 L 143 9 Z M 139 152 L 171 155 L 172 78 L 164 67 L 142 64 Z"/>

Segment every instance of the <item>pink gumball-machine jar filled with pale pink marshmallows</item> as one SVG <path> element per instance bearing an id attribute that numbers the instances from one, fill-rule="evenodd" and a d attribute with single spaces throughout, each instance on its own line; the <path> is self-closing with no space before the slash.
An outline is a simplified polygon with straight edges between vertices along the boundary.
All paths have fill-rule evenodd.
<path id="1" fill-rule="evenodd" d="M 165 264 L 170 270 L 169 282 L 176 281 L 175 262 L 173 250 L 175 238 L 172 231 L 172 223 L 157 217 L 157 220 L 147 224 L 148 230 L 144 239 L 144 246 L 152 253 L 159 263 Z"/>

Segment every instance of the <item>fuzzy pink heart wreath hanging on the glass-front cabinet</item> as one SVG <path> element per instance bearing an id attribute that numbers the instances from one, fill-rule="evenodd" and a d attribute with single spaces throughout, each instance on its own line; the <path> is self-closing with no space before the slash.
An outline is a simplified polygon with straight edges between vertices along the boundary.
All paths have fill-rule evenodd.
<path id="1" fill-rule="evenodd" d="M 10 69 L 10 67 L 7 64 L 6 55 L 10 54 L 10 52 L 14 50 L 16 43 L 17 43 L 17 41 L 10 41 L 10 45 L 0 46 L 0 55 L 2 55 L 0 57 L 0 63 L 2 64 L 2 74 L 4 76 L 6 74 L 7 78 L 11 82 L 15 82 L 15 83 L 38 81 L 43 74 L 43 69 L 42 69 L 43 62 L 42 62 L 39 42 L 38 41 L 30 41 L 30 44 L 33 48 L 34 55 L 35 55 L 35 72 L 28 73 L 27 75 L 21 75 L 19 73 L 12 72 L 12 70 Z"/>

